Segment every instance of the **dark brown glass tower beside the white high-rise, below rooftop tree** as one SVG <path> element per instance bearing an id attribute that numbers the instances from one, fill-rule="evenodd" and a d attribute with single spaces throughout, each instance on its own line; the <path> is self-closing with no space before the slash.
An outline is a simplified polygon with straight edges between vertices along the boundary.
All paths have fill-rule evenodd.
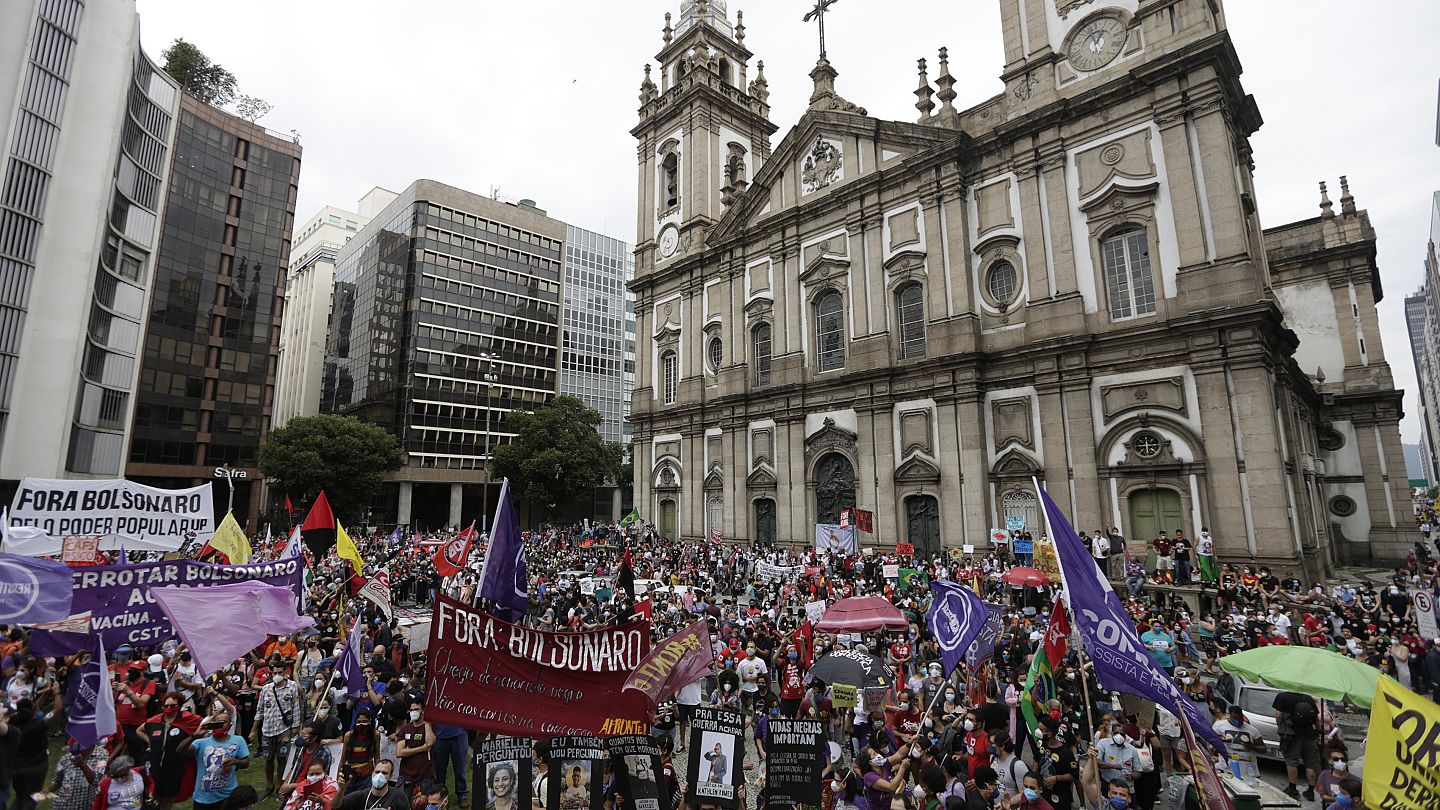
<path id="1" fill-rule="evenodd" d="M 186 95 L 170 169 L 125 476 L 216 481 L 261 513 L 300 144 Z M 239 477 L 243 476 L 243 477 Z"/>

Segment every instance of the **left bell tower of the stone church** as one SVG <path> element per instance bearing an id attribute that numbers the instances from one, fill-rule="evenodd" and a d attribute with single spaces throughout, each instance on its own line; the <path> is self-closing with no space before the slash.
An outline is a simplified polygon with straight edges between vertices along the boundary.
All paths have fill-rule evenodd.
<path id="1" fill-rule="evenodd" d="M 711 225 L 749 187 L 770 154 L 765 62 L 750 75 L 744 14 L 724 0 L 683 0 L 665 14 L 660 69 L 639 89 L 635 272 L 697 252 Z"/>

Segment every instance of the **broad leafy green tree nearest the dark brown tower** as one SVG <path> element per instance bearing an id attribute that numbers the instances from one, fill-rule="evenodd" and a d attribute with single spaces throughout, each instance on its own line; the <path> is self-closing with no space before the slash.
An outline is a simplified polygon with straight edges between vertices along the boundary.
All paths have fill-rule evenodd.
<path id="1" fill-rule="evenodd" d="M 344 523 L 356 523 L 384 474 L 405 466 L 389 431 L 354 417 L 300 417 L 274 430 L 261 447 L 261 471 L 292 499 L 325 490 Z"/>

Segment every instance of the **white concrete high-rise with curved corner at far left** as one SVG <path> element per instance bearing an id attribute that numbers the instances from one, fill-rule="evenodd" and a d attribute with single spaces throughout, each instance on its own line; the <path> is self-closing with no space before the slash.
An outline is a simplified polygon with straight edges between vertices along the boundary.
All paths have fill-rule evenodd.
<path id="1" fill-rule="evenodd" d="M 124 471 L 179 108 L 134 3 L 0 6 L 0 499 Z"/>

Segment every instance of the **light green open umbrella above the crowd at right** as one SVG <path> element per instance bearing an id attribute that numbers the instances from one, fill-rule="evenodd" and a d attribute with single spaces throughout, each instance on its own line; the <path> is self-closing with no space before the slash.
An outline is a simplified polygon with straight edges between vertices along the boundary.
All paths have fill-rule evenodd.
<path id="1" fill-rule="evenodd" d="M 1320 647 L 1276 644 L 1220 659 L 1220 669 L 1251 683 L 1303 692 L 1331 700 L 1348 700 L 1368 709 L 1375 698 L 1380 670 Z"/>

